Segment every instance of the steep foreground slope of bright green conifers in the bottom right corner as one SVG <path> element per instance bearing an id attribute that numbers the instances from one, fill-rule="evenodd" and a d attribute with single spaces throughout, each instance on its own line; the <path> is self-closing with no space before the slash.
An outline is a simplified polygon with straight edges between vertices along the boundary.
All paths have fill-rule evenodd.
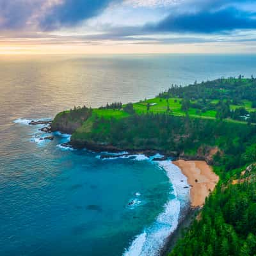
<path id="1" fill-rule="evenodd" d="M 255 167 L 220 183 L 169 256 L 256 254 Z"/>

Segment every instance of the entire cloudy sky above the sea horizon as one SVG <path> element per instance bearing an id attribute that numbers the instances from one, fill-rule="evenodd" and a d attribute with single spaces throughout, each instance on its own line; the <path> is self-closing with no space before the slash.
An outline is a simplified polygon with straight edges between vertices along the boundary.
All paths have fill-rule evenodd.
<path id="1" fill-rule="evenodd" d="M 255 42 L 255 0 L 0 0 L 0 54 L 253 54 Z"/>

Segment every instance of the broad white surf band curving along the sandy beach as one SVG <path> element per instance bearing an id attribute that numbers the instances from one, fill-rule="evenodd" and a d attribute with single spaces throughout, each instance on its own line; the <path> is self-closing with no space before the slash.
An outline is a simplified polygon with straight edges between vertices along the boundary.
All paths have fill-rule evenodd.
<path id="1" fill-rule="evenodd" d="M 170 199 L 164 205 L 164 211 L 157 216 L 157 220 L 132 241 L 131 246 L 125 250 L 124 256 L 159 255 L 167 237 L 178 226 L 180 210 L 189 204 L 189 189 L 184 189 L 184 186 L 188 186 L 186 176 L 171 161 L 157 163 L 166 171 L 173 185 L 170 194 L 175 195 L 175 198 Z"/>

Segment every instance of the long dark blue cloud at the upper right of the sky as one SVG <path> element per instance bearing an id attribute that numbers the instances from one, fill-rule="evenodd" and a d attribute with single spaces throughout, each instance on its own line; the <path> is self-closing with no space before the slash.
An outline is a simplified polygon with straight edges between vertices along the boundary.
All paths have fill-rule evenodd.
<path id="1" fill-rule="evenodd" d="M 170 14 L 157 24 L 147 24 L 146 31 L 219 33 L 234 29 L 255 29 L 255 13 L 226 8 L 217 11 Z"/>

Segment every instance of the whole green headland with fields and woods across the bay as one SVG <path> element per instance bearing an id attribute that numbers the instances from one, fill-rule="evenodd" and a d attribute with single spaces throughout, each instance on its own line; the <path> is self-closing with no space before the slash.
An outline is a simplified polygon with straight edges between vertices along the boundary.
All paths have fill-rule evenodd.
<path id="1" fill-rule="evenodd" d="M 149 149 L 170 156 L 202 158 L 207 148 L 218 147 L 220 150 L 214 156 L 214 163 L 231 170 L 255 158 L 252 152 L 255 152 L 256 125 L 250 124 L 256 112 L 253 102 L 248 101 L 255 93 L 255 84 L 253 77 L 239 77 L 184 88 L 173 86 L 155 99 L 136 104 L 116 102 L 99 109 L 70 109 L 54 118 L 52 128 L 72 133 L 73 146 L 93 150 Z M 222 95 L 221 99 L 209 99 L 215 98 L 215 93 Z M 184 95 L 183 99 L 181 95 Z M 189 95 L 193 97 L 189 98 Z M 203 96 L 206 98 L 200 98 Z M 199 103 L 212 109 L 196 114 L 200 111 Z M 195 105 L 198 105 L 196 111 Z M 237 113 L 240 115 L 241 109 L 247 109 L 250 116 L 238 116 L 243 120 L 232 119 Z"/>

